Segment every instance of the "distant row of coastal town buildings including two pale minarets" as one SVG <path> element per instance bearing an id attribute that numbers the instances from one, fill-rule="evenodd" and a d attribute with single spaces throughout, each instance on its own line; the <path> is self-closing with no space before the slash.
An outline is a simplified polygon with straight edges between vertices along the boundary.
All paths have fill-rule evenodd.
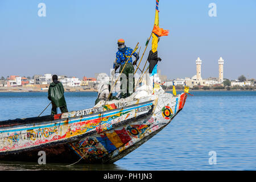
<path id="1" fill-rule="evenodd" d="M 209 77 L 209 78 L 202 78 L 201 74 L 201 64 L 202 60 L 200 57 L 197 57 L 196 59 L 196 75 L 192 77 L 185 77 L 185 78 L 176 78 L 176 79 L 168 79 L 167 76 L 161 75 L 160 69 L 158 72 L 154 75 L 154 81 L 160 85 L 164 85 L 166 88 L 171 88 L 173 84 L 175 86 L 184 86 L 187 85 L 190 88 L 193 88 L 197 86 L 197 88 L 202 88 L 203 86 L 225 86 L 224 81 L 228 80 L 223 77 L 224 75 L 224 59 L 220 57 L 218 59 L 218 77 Z M 147 72 L 148 73 L 148 72 Z M 135 75 L 135 84 L 137 84 L 139 76 L 141 74 Z M 115 81 L 115 79 L 118 77 L 118 73 L 115 74 L 115 78 L 109 77 L 106 73 L 96 73 L 95 77 L 68 77 L 65 75 L 58 76 L 58 80 L 62 82 L 63 86 L 67 90 L 97 90 L 98 86 L 102 83 L 108 83 L 110 82 L 110 79 Z M 244 77 L 244 76 L 243 76 Z M 151 78 L 151 79 L 150 79 Z M 245 78 L 245 77 L 244 77 Z M 240 78 L 238 78 L 240 79 Z M 245 78 L 246 79 L 246 78 Z M 240 79 L 241 80 L 241 79 Z M 152 77 L 150 74 L 145 74 L 144 78 L 142 80 L 142 84 L 148 84 L 148 81 L 152 82 Z M 52 74 L 46 73 L 44 75 L 34 75 L 32 78 L 28 77 L 20 77 L 20 76 L 8 76 L 6 79 L 4 77 L 0 80 L 0 86 L 1 87 L 12 87 L 12 86 L 26 86 L 27 88 L 32 89 L 40 89 L 40 90 L 48 90 L 49 84 L 52 82 Z M 239 81 L 239 80 L 232 80 L 229 81 L 230 86 L 236 87 L 236 86 L 254 86 L 256 84 L 256 81 L 252 78 L 251 80 L 245 80 L 245 81 Z M 226 82 L 225 82 L 226 84 Z M 228 86 L 229 86 L 228 85 Z M 114 92 L 119 92 L 120 88 L 120 79 L 117 81 L 115 88 L 113 89 Z M 18 89 L 18 88 L 16 88 Z"/>

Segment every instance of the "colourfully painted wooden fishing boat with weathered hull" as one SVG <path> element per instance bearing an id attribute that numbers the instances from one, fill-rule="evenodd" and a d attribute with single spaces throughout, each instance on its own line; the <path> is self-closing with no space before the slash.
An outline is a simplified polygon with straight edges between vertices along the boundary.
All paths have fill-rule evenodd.
<path id="1" fill-rule="evenodd" d="M 37 162 L 44 151 L 47 162 L 113 163 L 167 126 L 187 98 L 141 92 L 91 109 L 0 121 L 0 160 Z"/>

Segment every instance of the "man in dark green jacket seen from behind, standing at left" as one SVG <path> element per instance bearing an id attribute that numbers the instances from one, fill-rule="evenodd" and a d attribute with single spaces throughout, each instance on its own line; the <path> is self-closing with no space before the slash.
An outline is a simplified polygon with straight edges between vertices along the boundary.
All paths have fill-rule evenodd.
<path id="1" fill-rule="evenodd" d="M 48 99 L 52 101 L 51 115 L 57 114 L 57 107 L 60 107 L 61 113 L 67 113 L 67 104 L 64 97 L 64 88 L 57 75 L 52 76 L 52 83 L 48 89 Z"/>

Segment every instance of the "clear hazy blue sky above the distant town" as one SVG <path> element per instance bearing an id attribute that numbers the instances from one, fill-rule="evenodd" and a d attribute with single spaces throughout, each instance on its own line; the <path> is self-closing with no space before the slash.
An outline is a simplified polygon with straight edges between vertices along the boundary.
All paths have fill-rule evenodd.
<path id="1" fill-rule="evenodd" d="M 41 2 L 46 17 L 38 16 Z M 209 3 L 217 17 L 208 15 Z M 160 0 L 159 10 L 159 26 L 170 30 L 159 42 L 163 75 L 192 77 L 200 57 L 202 77 L 218 77 L 222 56 L 224 78 L 256 78 L 255 0 Z M 1 0 L 0 76 L 109 73 L 118 39 L 131 48 L 139 42 L 142 56 L 154 18 L 155 0 Z"/>

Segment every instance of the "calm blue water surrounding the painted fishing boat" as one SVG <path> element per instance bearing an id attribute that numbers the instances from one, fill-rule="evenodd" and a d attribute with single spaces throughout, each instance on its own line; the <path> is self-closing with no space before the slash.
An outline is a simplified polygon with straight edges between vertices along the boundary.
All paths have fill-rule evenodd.
<path id="1" fill-rule="evenodd" d="M 0 170 L 256 170 L 256 92 L 191 93 L 170 125 L 114 164 L 0 161 Z M 96 95 L 65 93 L 68 110 L 92 107 Z M 35 117 L 48 104 L 47 93 L 0 93 L 0 120 Z M 217 164 L 209 164 L 209 151 Z"/>

